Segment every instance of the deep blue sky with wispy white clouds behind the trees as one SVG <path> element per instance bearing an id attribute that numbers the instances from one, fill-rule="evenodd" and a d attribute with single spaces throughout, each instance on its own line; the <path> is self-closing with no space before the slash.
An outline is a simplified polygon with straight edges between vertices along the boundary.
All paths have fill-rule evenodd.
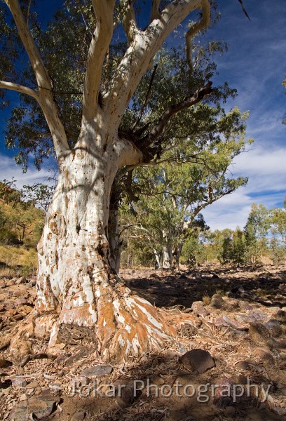
<path id="1" fill-rule="evenodd" d="M 243 227 L 253 202 L 266 207 L 282 206 L 286 195 L 286 1 L 244 0 L 251 21 L 241 11 L 238 0 L 219 0 L 222 18 L 207 32 L 207 39 L 224 39 L 229 52 L 217 57 L 219 76 L 214 86 L 228 81 L 238 90 L 238 97 L 226 105 L 249 110 L 247 138 L 254 138 L 250 150 L 236 157 L 232 175 L 249 178 L 246 187 L 226 196 L 204 210 L 211 229 Z M 13 95 L 17 101 L 17 95 Z M 0 115 L 0 130 L 5 126 L 5 113 Z M 0 133 L 1 136 L 1 133 Z M 19 187 L 44 178 L 48 169 L 38 173 L 29 168 L 22 174 L 4 149 L 0 138 L 0 179 L 18 180 Z"/>

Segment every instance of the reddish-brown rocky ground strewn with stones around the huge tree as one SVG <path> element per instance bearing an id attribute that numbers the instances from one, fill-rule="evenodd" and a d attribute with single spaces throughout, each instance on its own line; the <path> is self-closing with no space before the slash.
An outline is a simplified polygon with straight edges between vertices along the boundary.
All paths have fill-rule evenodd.
<path id="1" fill-rule="evenodd" d="M 177 328 L 160 354 L 108 366 L 86 342 L 20 363 L 0 355 L 1 420 L 286 419 L 285 268 L 123 270 Z M 34 279 L 0 279 L 1 336 L 32 311 Z M 0 337 L 1 339 L 1 337 Z"/>

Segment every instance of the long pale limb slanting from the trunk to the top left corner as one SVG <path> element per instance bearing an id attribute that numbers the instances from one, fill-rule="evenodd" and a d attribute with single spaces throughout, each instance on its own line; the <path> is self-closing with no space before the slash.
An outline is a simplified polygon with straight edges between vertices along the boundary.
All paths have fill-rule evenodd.
<path id="1" fill-rule="evenodd" d="M 37 99 L 39 100 L 39 105 L 41 106 L 43 114 L 46 117 L 46 121 L 50 128 L 50 133 L 53 137 L 55 153 L 59 158 L 65 152 L 67 152 L 67 150 L 69 150 L 69 145 L 67 142 L 67 135 L 64 131 L 64 126 L 62 125 L 62 122 L 60 121 L 57 113 L 57 105 L 53 98 L 52 81 L 45 65 L 43 64 L 41 54 L 29 30 L 29 26 L 27 25 L 27 21 L 25 20 L 18 0 L 4 1 L 6 2 L 13 15 L 20 39 L 22 40 L 22 44 L 27 51 L 27 55 L 29 56 L 29 60 L 34 70 L 36 83 L 39 87 L 39 94 Z M 25 93 L 29 93 L 29 95 L 31 95 L 32 90 L 28 92 L 27 89 Z"/>

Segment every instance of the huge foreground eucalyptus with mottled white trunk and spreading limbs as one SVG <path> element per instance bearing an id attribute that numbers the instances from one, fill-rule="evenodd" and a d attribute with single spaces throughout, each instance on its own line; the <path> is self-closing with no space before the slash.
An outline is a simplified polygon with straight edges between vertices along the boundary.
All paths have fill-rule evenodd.
<path id="1" fill-rule="evenodd" d="M 21 101 L 6 143 L 20 149 L 24 166 L 31 154 L 37 167 L 55 154 L 59 168 L 38 246 L 36 313 L 29 332 L 14 335 L 13 349 L 20 336 L 40 335 L 43 327 L 50 347 L 86 338 L 103 359 L 161 349 L 173 328 L 111 273 L 109 199 L 116 177 L 168 147 L 164 133 L 172 117 L 211 99 L 213 72 L 196 74 L 191 51 L 193 36 L 210 24 L 210 1 L 153 0 L 142 26 L 140 2 L 131 0 L 67 1 L 43 25 L 34 2 L 4 3 L 2 32 L 15 42 L 1 47 L 8 61 L 0 65 L 0 88 L 18 91 Z M 151 81 L 156 54 L 188 17 L 184 77 L 171 80 L 175 95 L 165 93 L 156 119 L 146 121 L 144 101 L 139 109 L 133 101 L 137 88 Z"/>

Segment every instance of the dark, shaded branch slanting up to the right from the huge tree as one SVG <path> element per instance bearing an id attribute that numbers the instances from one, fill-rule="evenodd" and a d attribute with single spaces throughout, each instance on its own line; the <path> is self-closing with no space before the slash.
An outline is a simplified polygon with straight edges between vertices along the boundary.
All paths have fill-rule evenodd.
<path id="1" fill-rule="evenodd" d="M 178 104 L 172 105 L 172 107 L 165 110 L 163 115 L 158 119 L 158 122 L 156 123 L 156 126 L 152 128 L 149 135 L 147 135 L 142 140 L 139 140 L 137 142 L 136 146 L 140 149 L 146 148 L 150 146 L 154 141 L 161 135 L 163 132 L 165 125 L 168 123 L 170 118 L 177 114 L 179 111 L 182 111 L 182 109 L 186 109 L 191 107 L 191 105 L 195 105 L 203 98 L 205 98 L 206 95 L 210 95 L 212 93 L 212 82 L 207 82 L 203 88 L 197 89 L 194 93 L 192 93 L 189 97 L 185 98 L 182 102 L 179 102 Z"/>

